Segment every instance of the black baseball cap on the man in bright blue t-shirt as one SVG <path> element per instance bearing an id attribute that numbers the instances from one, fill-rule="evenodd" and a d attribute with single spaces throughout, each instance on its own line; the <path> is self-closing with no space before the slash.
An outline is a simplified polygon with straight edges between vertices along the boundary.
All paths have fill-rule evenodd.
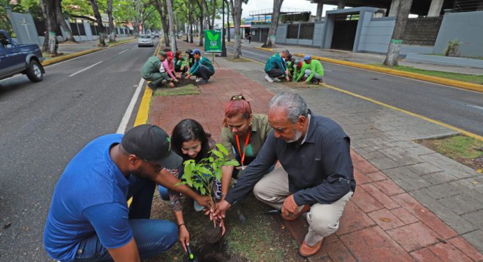
<path id="1" fill-rule="evenodd" d="M 145 124 L 131 128 L 124 134 L 121 145 L 126 152 L 168 169 L 177 169 L 183 162 L 171 150 L 170 136 L 157 125 Z"/>

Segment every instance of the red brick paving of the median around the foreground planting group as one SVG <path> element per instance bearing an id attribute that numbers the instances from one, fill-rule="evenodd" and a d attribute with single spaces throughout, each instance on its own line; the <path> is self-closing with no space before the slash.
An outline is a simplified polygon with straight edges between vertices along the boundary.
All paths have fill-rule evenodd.
<path id="1" fill-rule="evenodd" d="M 190 45 L 193 49 L 193 45 Z M 181 43 L 179 48 L 188 45 Z M 216 58 L 218 59 L 218 58 Z M 220 141 L 223 108 L 243 93 L 253 111 L 267 114 L 274 93 L 230 68 L 216 68 L 200 95 L 154 97 L 149 122 L 168 132 L 181 119 L 199 121 Z M 357 190 L 341 217 L 339 230 L 324 240 L 309 261 L 483 261 L 483 255 L 390 178 L 351 151 Z M 301 243 L 304 219 L 285 223 Z"/>

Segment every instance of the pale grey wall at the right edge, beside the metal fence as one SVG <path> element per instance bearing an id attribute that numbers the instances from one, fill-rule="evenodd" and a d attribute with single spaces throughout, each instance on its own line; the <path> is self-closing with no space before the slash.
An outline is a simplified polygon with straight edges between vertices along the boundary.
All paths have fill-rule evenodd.
<path id="1" fill-rule="evenodd" d="M 461 56 L 483 56 L 483 11 L 446 13 L 436 38 L 434 52 L 445 51 L 448 41 L 463 42 Z"/>

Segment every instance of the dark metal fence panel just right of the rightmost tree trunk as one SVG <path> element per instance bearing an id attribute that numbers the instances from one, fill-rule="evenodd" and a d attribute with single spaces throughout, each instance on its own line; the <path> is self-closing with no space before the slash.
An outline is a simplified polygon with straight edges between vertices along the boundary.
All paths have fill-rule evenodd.
<path id="1" fill-rule="evenodd" d="M 443 17 L 409 18 L 403 36 L 403 45 L 433 46 L 440 31 Z"/>

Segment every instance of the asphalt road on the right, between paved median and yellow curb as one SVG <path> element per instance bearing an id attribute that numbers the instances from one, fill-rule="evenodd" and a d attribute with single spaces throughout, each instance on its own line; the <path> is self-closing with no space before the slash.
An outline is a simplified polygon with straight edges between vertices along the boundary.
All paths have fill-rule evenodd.
<path id="1" fill-rule="evenodd" d="M 233 52 L 233 45 L 226 47 Z M 243 47 L 241 54 L 265 63 L 273 52 Z M 334 63 L 322 65 L 327 84 L 483 135 L 483 93 Z"/>

